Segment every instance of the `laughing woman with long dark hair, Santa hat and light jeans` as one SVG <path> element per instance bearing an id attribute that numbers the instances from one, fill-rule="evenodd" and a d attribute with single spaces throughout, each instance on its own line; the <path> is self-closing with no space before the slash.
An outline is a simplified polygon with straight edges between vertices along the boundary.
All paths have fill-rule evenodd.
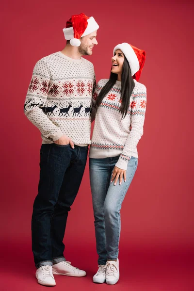
<path id="1" fill-rule="evenodd" d="M 100 80 L 93 95 L 96 118 L 89 157 L 98 254 L 95 283 L 113 285 L 119 279 L 120 209 L 137 169 L 143 134 L 146 87 L 138 80 L 145 59 L 144 50 L 117 45 L 110 79 Z"/>

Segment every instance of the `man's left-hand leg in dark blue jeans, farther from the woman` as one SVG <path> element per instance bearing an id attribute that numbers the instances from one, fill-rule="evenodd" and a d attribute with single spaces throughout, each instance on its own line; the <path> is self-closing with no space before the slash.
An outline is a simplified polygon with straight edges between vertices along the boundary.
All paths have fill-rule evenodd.
<path id="1" fill-rule="evenodd" d="M 40 181 L 32 213 L 32 251 L 37 268 L 52 265 L 50 219 L 58 200 L 65 171 L 70 164 L 70 146 L 42 145 Z"/>

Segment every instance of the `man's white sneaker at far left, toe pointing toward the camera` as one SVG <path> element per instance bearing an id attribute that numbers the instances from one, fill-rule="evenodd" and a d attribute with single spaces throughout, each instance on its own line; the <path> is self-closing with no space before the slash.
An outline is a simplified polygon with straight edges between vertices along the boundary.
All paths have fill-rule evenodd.
<path id="1" fill-rule="evenodd" d="M 55 286 L 56 282 L 52 275 L 52 266 L 45 265 L 36 270 L 38 283 L 45 286 Z"/>

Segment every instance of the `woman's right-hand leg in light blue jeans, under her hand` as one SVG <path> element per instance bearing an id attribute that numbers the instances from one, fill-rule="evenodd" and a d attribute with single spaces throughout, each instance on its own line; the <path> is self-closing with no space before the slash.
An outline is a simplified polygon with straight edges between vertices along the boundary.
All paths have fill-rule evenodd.
<path id="1" fill-rule="evenodd" d="M 117 184 L 114 186 L 114 183 L 110 184 L 109 181 L 109 188 L 104 202 L 106 251 L 108 260 L 115 260 L 118 258 L 118 245 L 121 229 L 120 210 L 137 169 L 137 161 L 138 159 L 134 157 L 131 157 L 129 160 L 126 172 L 126 182 L 123 180 L 122 184 L 119 185 L 119 181 L 117 181 Z"/>

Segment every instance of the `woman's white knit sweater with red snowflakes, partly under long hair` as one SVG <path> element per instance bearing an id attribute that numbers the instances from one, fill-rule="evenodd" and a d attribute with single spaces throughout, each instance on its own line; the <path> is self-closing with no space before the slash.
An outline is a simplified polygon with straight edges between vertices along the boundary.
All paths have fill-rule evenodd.
<path id="1" fill-rule="evenodd" d="M 143 135 L 146 113 L 146 87 L 134 80 L 135 87 L 130 97 L 129 110 L 122 119 L 121 81 L 116 81 L 113 88 L 103 98 L 95 113 L 95 103 L 99 92 L 108 79 L 97 83 L 93 94 L 93 118 L 95 125 L 90 146 L 90 158 L 103 159 L 120 155 L 116 166 L 127 170 L 131 157 L 138 158 L 137 144 Z"/>

